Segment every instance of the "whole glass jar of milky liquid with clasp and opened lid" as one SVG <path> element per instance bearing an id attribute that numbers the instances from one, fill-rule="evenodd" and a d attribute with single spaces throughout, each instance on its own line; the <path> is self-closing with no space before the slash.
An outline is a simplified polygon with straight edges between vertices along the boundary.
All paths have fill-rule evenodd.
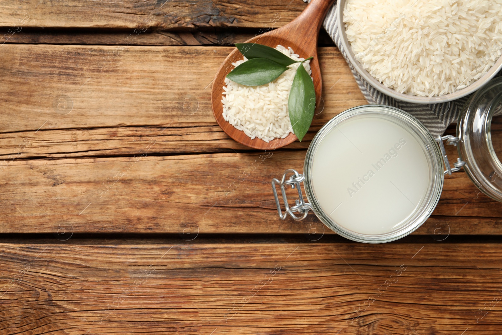
<path id="1" fill-rule="evenodd" d="M 462 167 L 482 192 L 502 201 L 502 164 L 490 136 L 493 115 L 502 112 L 501 101 L 502 78 L 497 78 L 466 104 L 455 137 L 435 138 L 416 118 L 390 106 L 344 111 L 312 140 L 303 174 L 290 169 L 281 180 L 273 179 L 279 216 L 301 220 L 312 210 L 324 225 L 350 240 L 395 241 L 425 222 L 439 201 L 444 175 Z M 458 148 L 453 167 L 443 141 Z M 298 192 L 291 207 L 287 188 Z"/>

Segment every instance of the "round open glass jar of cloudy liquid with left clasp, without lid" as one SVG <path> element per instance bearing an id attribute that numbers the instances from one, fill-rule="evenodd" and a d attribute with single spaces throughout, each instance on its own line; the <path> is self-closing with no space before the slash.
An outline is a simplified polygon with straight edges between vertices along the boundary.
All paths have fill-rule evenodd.
<path id="1" fill-rule="evenodd" d="M 417 119 L 397 108 L 364 105 L 322 127 L 307 151 L 303 175 L 287 170 L 272 184 L 281 218 L 302 219 L 312 210 L 348 239 L 382 243 L 420 227 L 439 200 L 443 176 L 440 147 Z M 287 203 L 286 187 L 298 190 L 294 206 Z"/>

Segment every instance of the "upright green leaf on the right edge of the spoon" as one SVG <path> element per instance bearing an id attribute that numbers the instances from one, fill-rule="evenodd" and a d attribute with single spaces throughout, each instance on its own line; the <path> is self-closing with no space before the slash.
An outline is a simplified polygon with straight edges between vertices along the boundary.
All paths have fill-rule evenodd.
<path id="1" fill-rule="evenodd" d="M 315 89 L 303 64 L 296 70 L 288 100 L 289 119 L 300 142 L 309 130 L 315 109 Z"/>

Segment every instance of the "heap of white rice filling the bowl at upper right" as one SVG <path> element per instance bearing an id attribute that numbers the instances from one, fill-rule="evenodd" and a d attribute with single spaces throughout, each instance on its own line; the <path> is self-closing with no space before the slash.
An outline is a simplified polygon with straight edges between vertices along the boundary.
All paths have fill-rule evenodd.
<path id="1" fill-rule="evenodd" d="M 453 93 L 502 54 L 502 0 L 347 0 L 343 17 L 362 67 L 401 93 Z"/>

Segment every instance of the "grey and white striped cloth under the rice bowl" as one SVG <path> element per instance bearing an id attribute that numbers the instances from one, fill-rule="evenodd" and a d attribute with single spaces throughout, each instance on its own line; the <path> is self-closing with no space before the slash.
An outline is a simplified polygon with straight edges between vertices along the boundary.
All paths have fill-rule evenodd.
<path id="1" fill-rule="evenodd" d="M 345 50 L 341 46 L 340 35 L 338 34 L 338 27 L 336 23 L 336 6 L 337 4 L 335 3 L 326 15 L 326 19 L 324 20 L 324 28 L 328 32 L 329 36 L 331 36 L 331 39 L 338 46 L 338 49 L 340 50 L 343 58 L 345 58 L 345 60 L 347 61 L 350 70 L 354 75 L 359 89 L 369 103 L 385 104 L 407 111 L 415 118 L 420 120 L 434 136 L 442 135 L 448 125 L 457 122 L 458 115 L 462 110 L 462 106 L 470 97 L 470 95 L 459 98 L 457 100 L 442 103 L 411 103 L 394 99 L 373 88 L 367 81 L 365 81 L 357 73 L 357 71 L 355 71 L 354 67 L 348 62 Z M 502 74 L 502 72 L 499 74 Z"/>

